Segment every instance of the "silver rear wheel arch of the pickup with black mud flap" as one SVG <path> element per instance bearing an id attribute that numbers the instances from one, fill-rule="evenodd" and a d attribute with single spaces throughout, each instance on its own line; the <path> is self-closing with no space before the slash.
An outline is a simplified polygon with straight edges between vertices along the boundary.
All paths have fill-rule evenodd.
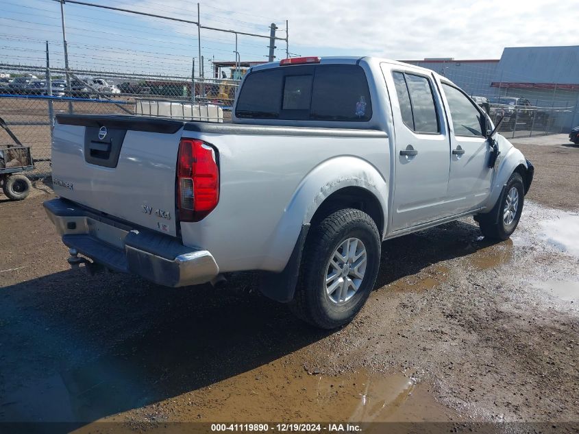
<path id="1" fill-rule="evenodd" d="M 267 257 L 272 262 L 262 269 L 281 269 L 280 272 L 264 272 L 261 291 L 281 302 L 293 298 L 301 250 L 310 226 L 334 210 L 356 208 L 364 211 L 375 221 L 382 237 L 386 230 L 388 195 L 388 184 L 380 171 L 362 158 L 339 156 L 315 167 L 295 190 L 269 241 Z"/>

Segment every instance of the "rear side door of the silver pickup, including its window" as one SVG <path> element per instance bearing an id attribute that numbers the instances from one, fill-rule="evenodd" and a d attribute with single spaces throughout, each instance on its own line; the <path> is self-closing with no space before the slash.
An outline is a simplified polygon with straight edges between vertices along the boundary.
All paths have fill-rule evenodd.
<path id="1" fill-rule="evenodd" d="M 449 215 L 446 203 L 449 137 L 432 76 L 382 64 L 395 128 L 391 230 Z"/>

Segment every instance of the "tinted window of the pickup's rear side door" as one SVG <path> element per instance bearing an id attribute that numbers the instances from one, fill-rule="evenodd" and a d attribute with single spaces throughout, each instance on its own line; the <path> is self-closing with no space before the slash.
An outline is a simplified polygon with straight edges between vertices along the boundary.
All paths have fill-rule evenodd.
<path id="1" fill-rule="evenodd" d="M 420 134 L 439 134 L 439 117 L 430 80 L 402 72 L 393 72 L 393 78 L 404 124 Z"/>

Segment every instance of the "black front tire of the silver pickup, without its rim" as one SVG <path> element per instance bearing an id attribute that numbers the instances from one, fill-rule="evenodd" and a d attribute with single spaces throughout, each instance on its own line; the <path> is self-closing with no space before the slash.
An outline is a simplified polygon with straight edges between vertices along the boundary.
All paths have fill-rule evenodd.
<path id="1" fill-rule="evenodd" d="M 506 224 L 504 219 L 504 210 L 506 202 L 508 201 L 508 194 L 513 188 L 517 189 L 518 194 L 517 211 L 513 221 L 511 221 L 510 224 Z M 515 232 L 517 224 L 519 224 L 524 202 L 525 186 L 523 185 L 523 178 L 520 173 L 515 172 L 510 176 L 506 186 L 504 186 L 504 189 L 501 192 L 499 200 L 497 200 L 497 203 L 491 212 L 477 216 L 478 226 L 480 226 L 480 231 L 484 237 L 497 240 L 508 239 L 508 237 Z"/>

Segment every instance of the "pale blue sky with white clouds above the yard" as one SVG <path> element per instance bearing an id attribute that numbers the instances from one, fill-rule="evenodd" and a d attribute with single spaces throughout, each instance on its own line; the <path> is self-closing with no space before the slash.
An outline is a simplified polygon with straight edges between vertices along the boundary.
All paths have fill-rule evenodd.
<path id="1" fill-rule="evenodd" d="M 91 0 L 88 0 L 91 1 Z M 185 0 L 92 0 L 117 8 L 197 21 L 197 3 Z M 579 45 L 569 21 L 579 0 L 228 0 L 201 2 L 202 25 L 286 37 L 293 56 L 380 56 L 498 59 L 503 47 Z M 197 26 L 64 5 L 71 68 L 190 75 L 199 67 Z M 52 0 L 3 0 L 0 62 L 44 65 L 45 45 L 53 66 L 62 66 L 60 5 Z M 201 30 L 204 68 L 211 60 L 234 60 L 233 34 Z M 239 36 L 241 60 L 267 60 L 269 41 Z M 278 40 L 276 58 L 286 57 Z M 195 75 L 199 73 L 196 71 Z M 208 75 L 208 73 L 206 73 Z"/>

